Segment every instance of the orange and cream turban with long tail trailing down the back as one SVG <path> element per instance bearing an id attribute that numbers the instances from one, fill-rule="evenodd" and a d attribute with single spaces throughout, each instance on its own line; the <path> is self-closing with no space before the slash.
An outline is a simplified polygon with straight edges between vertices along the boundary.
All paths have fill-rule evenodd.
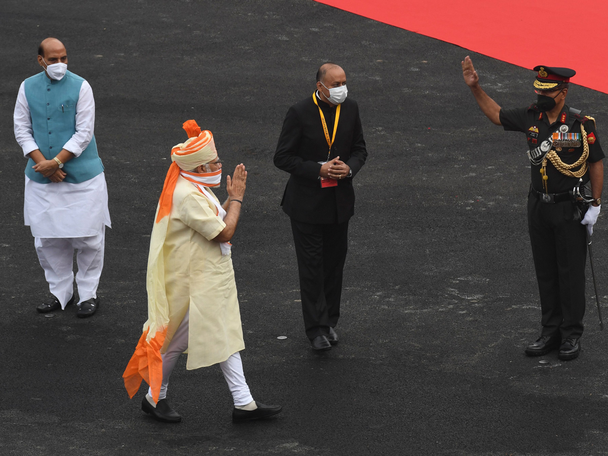
<path id="1" fill-rule="evenodd" d="M 156 209 L 156 222 L 150 236 L 146 289 L 148 291 L 148 320 L 143 324 L 143 333 L 131 360 L 123 373 L 126 391 L 133 398 L 144 380 L 152 389 L 152 398 L 158 401 L 162 382 L 161 348 L 167 337 L 169 305 L 165 289 L 165 265 L 163 246 L 167 237 L 169 214 L 173 192 L 180 170 L 189 171 L 218 156 L 210 131 L 201 131 L 194 120 L 184 122 L 188 140 L 171 149 L 171 166 L 167 171 Z"/>

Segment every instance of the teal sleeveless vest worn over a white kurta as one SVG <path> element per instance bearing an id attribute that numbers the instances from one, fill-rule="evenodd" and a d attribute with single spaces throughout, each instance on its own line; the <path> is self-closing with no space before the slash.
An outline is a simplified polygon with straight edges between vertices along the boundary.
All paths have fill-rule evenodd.
<path id="1" fill-rule="evenodd" d="M 66 71 L 61 81 L 50 80 L 44 71 L 25 80 L 27 104 L 32 117 L 33 137 L 41 153 L 52 160 L 64 144 L 76 133 L 76 105 L 84 79 Z M 32 169 L 35 162 L 27 161 L 26 176 L 40 184 L 49 179 Z M 92 137 L 80 156 L 63 165 L 66 178 L 63 182 L 78 184 L 103 173 L 103 164 L 97 155 L 97 143 Z"/>

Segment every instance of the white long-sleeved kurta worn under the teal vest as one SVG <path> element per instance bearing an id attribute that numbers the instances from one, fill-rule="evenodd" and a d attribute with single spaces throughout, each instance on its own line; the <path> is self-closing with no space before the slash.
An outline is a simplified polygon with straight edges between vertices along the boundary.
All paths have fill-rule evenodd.
<path id="1" fill-rule="evenodd" d="M 15 138 L 27 156 L 38 148 L 33 138 L 32 118 L 21 83 L 15 103 Z M 76 105 L 76 132 L 64 149 L 76 157 L 89 145 L 95 125 L 95 102 L 88 82 L 80 87 Z M 40 184 L 27 178 L 23 215 L 36 238 L 77 238 L 101 234 L 103 226 L 111 227 L 108 210 L 108 187 L 105 174 L 78 184 L 50 182 Z"/>

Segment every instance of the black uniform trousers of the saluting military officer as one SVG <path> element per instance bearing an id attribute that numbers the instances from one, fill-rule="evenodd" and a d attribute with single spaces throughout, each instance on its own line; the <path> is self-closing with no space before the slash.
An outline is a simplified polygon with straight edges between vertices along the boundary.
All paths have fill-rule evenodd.
<path id="1" fill-rule="evenodd" d="M 528 196 L 528 232 L 541 295 L 542 335 L 581 337 L 585 314 L 586 226 L 570 201 L 545 204 Z"/>

